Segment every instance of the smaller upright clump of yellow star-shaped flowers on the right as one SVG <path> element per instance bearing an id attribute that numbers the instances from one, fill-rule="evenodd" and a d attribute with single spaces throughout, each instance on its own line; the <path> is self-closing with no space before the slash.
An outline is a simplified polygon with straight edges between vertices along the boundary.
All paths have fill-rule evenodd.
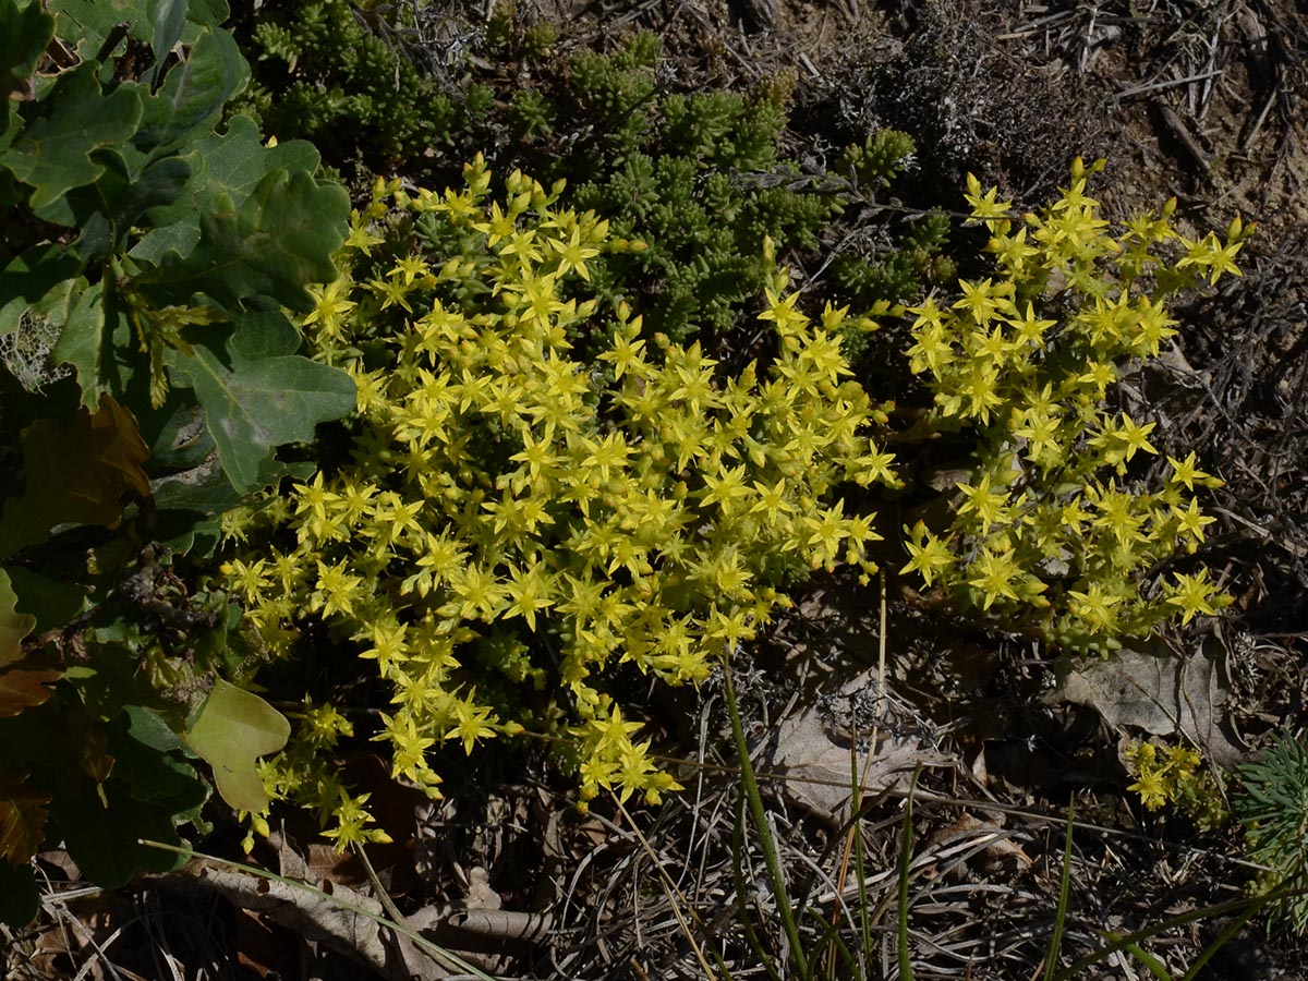
<path id="1" fill-rule="evenodd" d="M 1232 259 L 1253 230 L 1236 218 L 1224 242 L 1189 241 L 1171 224 L 1173 200 L 1114 237 L 1086 195 L 1101 166 L 1078 160 L 1071 186 L 1016 230 L 1011 205 L 969 175 L 972 221 L 990 233 L 995 275 L 960 283 L 952 305 L 930 297 L 913 307 L 908 352 L 935 392 L 934 428 L 972 428 L 978 455 L 956 484 L 947 527 L 905 527 L 904 572 L 1078 649 L 1230 602 L 1207 570 L 1146 581 L 1155 564 L 1203 542 L 1214 519 L 1194 490 L 1222 481 L 1192 453 L 1168 456 L 1165 487 L 1144 493 L 1138 464 L 1158 454 L 1156 424 L 1108 409 L 1105 395 L 1176 334 L 1171 296 L 1205 275 L 1239 275 Z M 1164 259 L 1176 246 L 1180 258 Z"/>

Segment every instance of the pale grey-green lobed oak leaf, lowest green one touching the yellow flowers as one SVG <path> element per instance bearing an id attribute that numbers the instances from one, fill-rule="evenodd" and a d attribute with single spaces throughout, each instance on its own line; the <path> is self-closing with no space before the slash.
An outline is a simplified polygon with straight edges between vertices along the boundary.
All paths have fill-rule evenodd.
<path id="1" fill-rule="evenodd" d="M 239 318 L 228 351 L 195 343 L 169 351 L 177 382 L 195 391 L 218 447 L 218 460 L 238 490 L 260 487 L 260 468 L 275 447 L 314 438 L 319 422 L 354 408 L 348 374 L 294 353 L 300 335 L 276 311 Z"/>

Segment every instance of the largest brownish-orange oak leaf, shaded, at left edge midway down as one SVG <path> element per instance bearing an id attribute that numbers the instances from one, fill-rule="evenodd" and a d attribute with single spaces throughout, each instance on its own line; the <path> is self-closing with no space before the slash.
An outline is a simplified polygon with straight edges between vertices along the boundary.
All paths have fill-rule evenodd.
<path id="1" fill-rule="evenodd" d="M 44 542 L 60 525 L 118 527 L 122 494 L 150 493 L 136 419 L 107 395 L 94 415 L 80 408 L 68 426 L 38 419 L 22 432 L 22 456 L 27 487 L 5 502 L 0 557 Z"/>

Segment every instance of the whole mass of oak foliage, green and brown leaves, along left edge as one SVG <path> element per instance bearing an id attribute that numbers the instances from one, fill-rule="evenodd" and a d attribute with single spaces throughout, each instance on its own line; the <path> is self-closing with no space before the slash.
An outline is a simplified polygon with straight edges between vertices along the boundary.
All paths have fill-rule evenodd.
<path id="1" fill-rule="evenodd" d="M 208 781 L 258 807 L 285 719 L 218 679 L 258 653 L 196 590 L 273 450 L 354 402 L 283 307 L 330 276 L 348 198 L 305 143 L 216 129 L 249 80 L 222 3 L 0 3 L 0 918 L 64 842 L 114 887 L 173 859 Z M 55 56 L 58 52 L 58 58 Z M 233 731 L 247 727 L 242 743 Z M 280 738 L 279 738 L 280 736 Z"/>

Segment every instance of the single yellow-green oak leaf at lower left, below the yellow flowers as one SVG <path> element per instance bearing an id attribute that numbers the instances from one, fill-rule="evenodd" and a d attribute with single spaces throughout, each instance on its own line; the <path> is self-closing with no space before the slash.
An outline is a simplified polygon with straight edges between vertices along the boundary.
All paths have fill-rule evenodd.
<path id="1" fill-rule="evenodd" d="M 220 678 L 183 738 L 213 768 L 222 799 L 238 811 L 258 814 L 268 806 L 268 793 L 255 764 L 260 756 L 279 752 L 289 736 L 285 715 L 254 692 Z"/>

